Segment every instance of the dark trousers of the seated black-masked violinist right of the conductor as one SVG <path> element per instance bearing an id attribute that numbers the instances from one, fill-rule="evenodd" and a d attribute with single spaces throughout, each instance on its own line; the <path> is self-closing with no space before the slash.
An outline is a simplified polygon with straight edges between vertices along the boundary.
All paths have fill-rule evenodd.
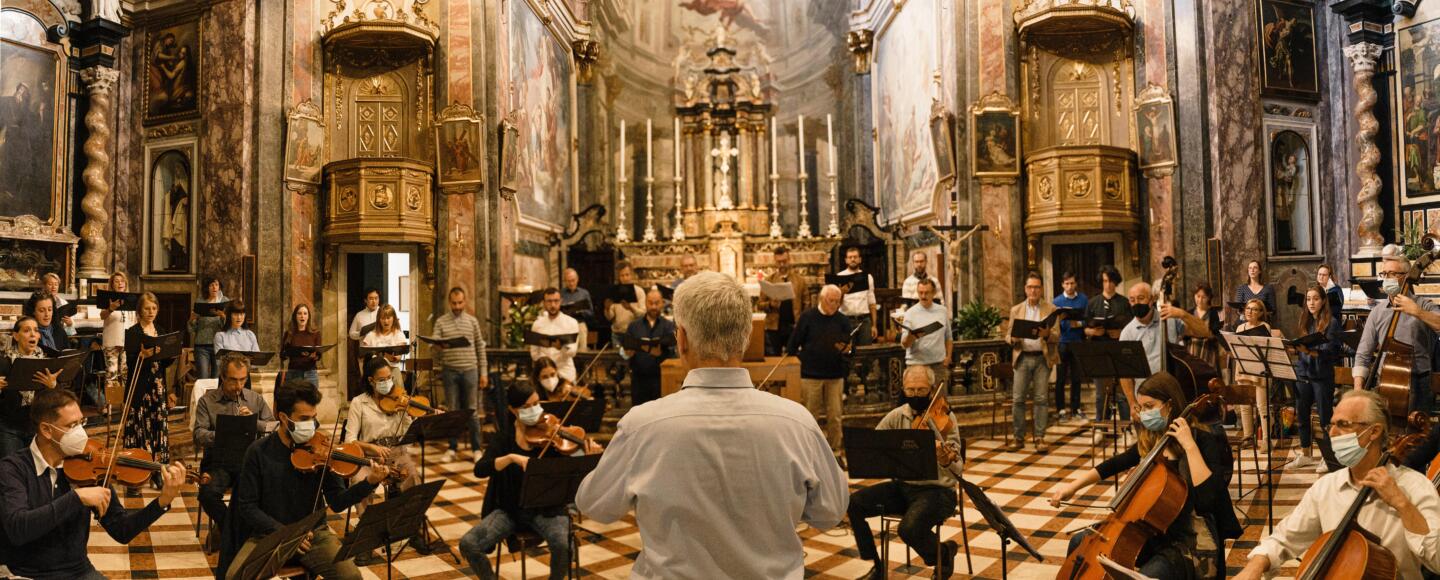
<path id="1" fill-rule="evenodd" d="M 876 515 L 900 515 L 900 540 L 920 554 L 926 566 L 935 566 L 940 540 L 935 525 L 955 515 L 955 489 L 887 481 L 850 494 L 850 530 L 855 533 L 855 548 L 861 558 L 871 561 L 880 560 L 880 554 L 865 518 Z"/>

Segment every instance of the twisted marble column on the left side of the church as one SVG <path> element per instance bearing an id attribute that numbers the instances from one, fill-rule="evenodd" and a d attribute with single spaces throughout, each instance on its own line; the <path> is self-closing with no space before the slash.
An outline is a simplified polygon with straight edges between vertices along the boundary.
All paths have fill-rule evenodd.
<path id="1" fill-rule="evenodd" d="M 85 112 L 85 171 L 81 177 L 85 181 L 85 197 L 81 200 L 81 212 L 85 213 L 85 225 L 81 226 L 81 240 L 84 250 L 79 258 L 81 278 L 105 278 L 108 275 L 109 239 L 109 153 L 105 147 L 111 141 L 111 91 L 120 71 L 107 66 L 91 66 L 81 71 L 81 81 L 89 89 L 91 107 Z"/>

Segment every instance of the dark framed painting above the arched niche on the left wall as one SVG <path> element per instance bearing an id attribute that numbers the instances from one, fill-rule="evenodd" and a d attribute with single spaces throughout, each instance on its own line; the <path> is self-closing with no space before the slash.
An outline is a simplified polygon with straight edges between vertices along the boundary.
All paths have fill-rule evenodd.
<path id="1" fill-rule="evenodd" d="M 200 20 L 145 33 L 143 111 L 147 125 L 200 115 Z"/>

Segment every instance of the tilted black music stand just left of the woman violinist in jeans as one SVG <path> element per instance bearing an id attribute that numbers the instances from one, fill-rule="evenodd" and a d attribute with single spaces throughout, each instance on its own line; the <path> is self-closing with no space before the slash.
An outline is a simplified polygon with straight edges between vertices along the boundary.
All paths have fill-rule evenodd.
<path id="1" fill-rule="evenodd" d="M 360 522 L 340 544 L 334 561 L 346 561 L 384 547 L 384 577 L 390 579 L 395 573 L 395 560 L 405 553 L 402 545 L 400 551 L 392 554 L 392 545 L 420 531 L 420 525 L 426 521 L 425 511 L 435 502 L 442 485 L 445 485 L 444 481 L 420 484 L 366 508 L 364 514 L 360 515 Z"/>

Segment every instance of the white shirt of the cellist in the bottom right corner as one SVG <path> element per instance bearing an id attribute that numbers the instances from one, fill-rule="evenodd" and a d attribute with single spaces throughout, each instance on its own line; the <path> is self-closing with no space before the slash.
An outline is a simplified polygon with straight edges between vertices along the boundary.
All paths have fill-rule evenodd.
<path id="1" fill-rule="evenodd" d="M 1421 567 L 1440 570 L 1440 495 L 1436 495 L 1430 479 L 1410 468 L 1391 465 L 1385 469 L 1400 491 L 1426 517 L 1430 534 L 1405 531 L 1405 525 L 1400 522 L 1400 512 L 1380 499 L 1378 494 L 1371 494 L 1369 502 L 1359 508 L 1356 527 L 1375 534 L 1381 545 L 1395 556 L 1398 577 L 1418 579 Z M 1351 484 L 1349 469 L 1325 473 L 1305 492 L 1295 511 L 1280 520 L 1274 533 L 1260 540 L 1260 545 L 1250 551 L 1250 557 L 1270 558 L 1267 573 L 1279 570 L 1280 564 L 1290 558 L 1300 557 L 1320 534 L 1339 525 L 1339 520 L 1345 517 L 1359 489 Z"/>

